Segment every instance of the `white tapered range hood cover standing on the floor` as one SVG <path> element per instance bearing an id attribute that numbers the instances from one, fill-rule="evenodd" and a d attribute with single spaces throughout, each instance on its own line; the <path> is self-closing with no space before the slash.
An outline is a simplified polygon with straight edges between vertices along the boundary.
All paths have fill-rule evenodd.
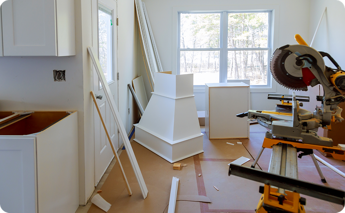
<path id="1" fill-rule="evenodd" d="M 145 113 L 134 124 L 134 140 L 171 163 L 204 152 L 193 74 L 157 72 L 155 78 L 155 91 Z"/>

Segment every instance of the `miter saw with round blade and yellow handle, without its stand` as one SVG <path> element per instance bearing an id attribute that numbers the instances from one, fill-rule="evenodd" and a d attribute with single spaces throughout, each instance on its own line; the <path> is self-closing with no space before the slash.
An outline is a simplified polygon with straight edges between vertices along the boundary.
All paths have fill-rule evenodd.
<path id="1" fill-rule="evenodd" d="M 332 121 L 344 120 L 341 117 L 342 109 L 338 104 L 345 101 L 341 93 L 345 92 L 345 71 L 329 54 L 309 47 L 299 35 L 295 38 L 300 44 L 282 46 L 272 55 L 270 64 L 272 75 L 280 85 L 291 90 L 307 91 L 308 86 L 321 84 L 324 95 L 316 97 L 321 101 L 321 107 L 317 107 L 311 113 L 300 108 L 303 106 L 303 101 L 309 102 L 308 96 L 295 95 L 294 92 L 292 95 L 269 94 L 268 99 L 281 100 L 281 104 L 276 105 L 276 110 L 249 110 L 237 116 L 256 119 L 259 124 L 270 129 L 266 138 L 317 145 L 320 146 L 318 150 L 341 154 L 342 156 L 333 156 L 345 160 L 344 151 L 333 148 L 332 139 L 318 136 L 316 133 L 319 127 L 327 128 Z M 332 61 L 336 68 L 325 66 L 323 57 Z M 311 147 L 311 149 L 316 148 Z M 256 162 L 257 159 L 253 166 Z"/>

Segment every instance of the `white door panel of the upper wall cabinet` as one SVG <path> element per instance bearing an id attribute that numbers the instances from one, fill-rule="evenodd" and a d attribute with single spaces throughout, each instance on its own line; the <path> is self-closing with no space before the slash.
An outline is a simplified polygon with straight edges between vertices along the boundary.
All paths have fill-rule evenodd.
<path id="1" fill-rule="evenodd" d="M 4 56 L 56 56 L 55 0 L 1 4 Z"/>

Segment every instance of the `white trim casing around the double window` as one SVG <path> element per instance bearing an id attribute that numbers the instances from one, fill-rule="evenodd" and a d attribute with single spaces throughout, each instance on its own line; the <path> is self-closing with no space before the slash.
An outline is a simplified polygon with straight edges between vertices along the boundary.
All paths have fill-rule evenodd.
<path id="1" fill-rule="evenodd" d="M 172 73 L 177 74 L 177 67 L 178 67 L 178 33 L 179 33 L 179 12 L 224 12 L 224 11 L 232 11 L 232 12 L 250 12 L 250 11 L 272 11 L 272 51 L 278 48 L 278 35 L 279 31 L 279 5 L 272 4 L 272 5 L 197 5 L 197 6 L 178 6 L 173 7 L 173 36 L 172 36 Z M 224 12 L 226 13 L 226 12 Z M 225 25 L 227 23 L 221 24 Z M 224 32 L 225 31 L 225 32 Z M 223 30 L 223 34 L 226 33 L 226 30 Z M 223 35 L 221 35 L 222 37 Z M 226 51 L 227 49 L 224 48 Z M 223 60 L 224 61 L 224 60 Z M 269 65 L 269 64 L 268 64 Z M 225 73 L 225 72 L 223 72 Z M 276 81 L 273 80 L 272 75 L 269 74 L 271 85 L 270 86 L 250 86 L 250 92 L 276 92 Z M 222 78 L 221 76 L 219 77 Z M 205 92 L 205 86 L 194 86 L 194 92 Z"/>

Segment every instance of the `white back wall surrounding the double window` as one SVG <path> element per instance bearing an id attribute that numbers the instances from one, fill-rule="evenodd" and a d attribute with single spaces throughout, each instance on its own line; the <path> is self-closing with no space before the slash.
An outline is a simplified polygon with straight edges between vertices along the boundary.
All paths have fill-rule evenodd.
<path id="1" fill-rule="evenodd" d="M 177 28 L 176 20 L 173 20 L 173 10 L 175 8 L 270 8 L 277 7 L 279 15 L 276 17 L 278 22 L 277 33 L 274 35 L 275 46 L 278 48 L 285 44 L 296 44 L 295 34 L 301 34 L 304 37 L 309 35 L 309 7 L 311 0 L 143 0 L 146 4 L 148 16 L 152 30 L 156 39 L 158 52 L 162 61 L 164 71 L 176 71 L 176 59 L 174 56 L 176 50 L 176 35 L 174 28 Z M 298 6 L 296 6 L 298 5 Z M 296 15 L 298 14 L 298 15 Z M 301 20 L 303 20 L 301 22 Z M 306 39 L 308 40 L 308 39 Z M 175 42 L 175 43 L 174 43 Z M 140 74 L 146 76 L 144 68 Z M 146 77 L 147 78 L 147 77 Z M 148 83 L 148 82 L 147 82 Z M 147 93 L 148 85 L 145 87 Z M 277 85 L 277 93 L 288 93 L 288 90 Z M 268 92 L 251 93 L 251 109 L 274 109 L 275 101 L 267 100 Z M 195 93 L 197 110 L 205 110 L 204 93 Z"/>

